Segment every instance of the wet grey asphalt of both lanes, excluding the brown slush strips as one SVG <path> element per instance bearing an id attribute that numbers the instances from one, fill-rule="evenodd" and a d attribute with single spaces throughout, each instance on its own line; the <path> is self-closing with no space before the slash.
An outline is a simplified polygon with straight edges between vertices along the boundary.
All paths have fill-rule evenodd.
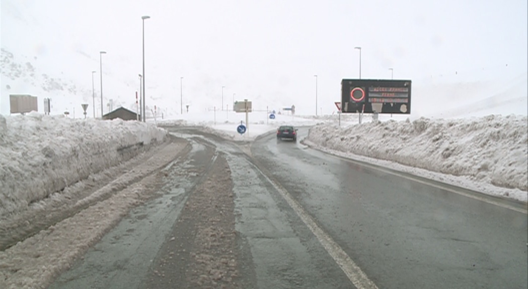
<path id="1" fill-rule="evenodd" d="M 185 162 L 165 168 L 173 178 L 162 196 L 125 217 L 52 288 L 145 288 L 215 152 L 231 170 L 244 288 L 528 286 L 523 205 L 493 200 L 515 211 L 301 143 L 277 144 L 275 135 L 248 145 L 173 132 L 195 140 Z"/>

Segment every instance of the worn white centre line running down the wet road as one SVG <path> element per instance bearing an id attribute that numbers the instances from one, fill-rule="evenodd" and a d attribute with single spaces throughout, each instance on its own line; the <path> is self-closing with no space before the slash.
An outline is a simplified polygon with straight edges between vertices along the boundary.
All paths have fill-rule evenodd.
<path id="1" fill-rule="evenodd" d="M 326 252 L 337 263 L 338 266 L 341 267 L 341 270 L 346 274 L 348 277 L 348 280 L 356 286 L 357 289 L 378 289 L 378 286 L 372 282 L 369 277 L 361 270 L 359 266 L 352 260 L 348 254 L 330 237 L 328 234 L 326 234 L 322 228 L 320 228 L 317 223 L 313 220 L 313 218 L 308 215 L 308 213 L 304 210 L 304 208 L 297 203 L 297 201 L 294 200 L 288 193 L 288 191 L 282 187 L 280 184 L 276 184 L 275 182 L 271 181 L 270 178 L 263 173 L 260 168 L 258 168 L 253 163 L 249 162 L 253 167 L 256 168 L 258 172 L 262 176 L 266 178 L 266 180 L 272 184 L 277 191 L 284 197 L 284 200 L 288 203 L 288 205 L 294 210 L 294 212 L 299 216 L 301 220 L 306 224 L 306 226 L 312 231 L 312 233 L 317 237 L 317 240 L 319 240 L 319 243 L 323 245 Z"/>

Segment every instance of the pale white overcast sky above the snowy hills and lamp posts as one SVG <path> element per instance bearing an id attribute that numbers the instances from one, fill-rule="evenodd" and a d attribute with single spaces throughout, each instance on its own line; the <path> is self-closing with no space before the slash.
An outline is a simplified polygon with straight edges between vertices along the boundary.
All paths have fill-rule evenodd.
<path id="1" fill-rule="evenodd" d="M 215 105 L 225 86 L 226 99 L 260 95 L 309 113 L 317 74 L 319 102 L 333 106 L 341 79 L 359 77 L 355 46 L 362 78 L 390 78 L 392 67 L 414 85 L 455 72 L 474 81 L 506 64 L 522 74 L 528 62 L 526 0 L 2 0 L 1 9 L 2 47 L 32 47 L 26 53 L 72 75 L 99 70 L 105 50 L 103 70 L 132 84 L 142 69 L 141 16 L 149 15 L 147 87 L 173 97 L 183 76 L 186 96 Z M 30 26 L 38 35 L 27 35 Z"/>

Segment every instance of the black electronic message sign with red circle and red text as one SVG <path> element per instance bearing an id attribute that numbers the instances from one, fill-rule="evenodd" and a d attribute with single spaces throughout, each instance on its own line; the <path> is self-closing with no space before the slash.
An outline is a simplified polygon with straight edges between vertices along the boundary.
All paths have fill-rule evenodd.
<path id="1" fill-rule="evenodd" d="M 411 113 L 411 81 L 343 79 L 342 113 Z"/>

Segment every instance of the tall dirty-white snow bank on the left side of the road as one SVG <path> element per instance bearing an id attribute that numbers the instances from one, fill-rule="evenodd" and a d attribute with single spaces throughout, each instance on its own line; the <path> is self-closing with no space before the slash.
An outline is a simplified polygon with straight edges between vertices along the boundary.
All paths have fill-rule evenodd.
<path id="1" fill-rule="evenodd" d="M 126 161 L 167 132 L 152 124 L 0 115 L 0 217 Z"/>

